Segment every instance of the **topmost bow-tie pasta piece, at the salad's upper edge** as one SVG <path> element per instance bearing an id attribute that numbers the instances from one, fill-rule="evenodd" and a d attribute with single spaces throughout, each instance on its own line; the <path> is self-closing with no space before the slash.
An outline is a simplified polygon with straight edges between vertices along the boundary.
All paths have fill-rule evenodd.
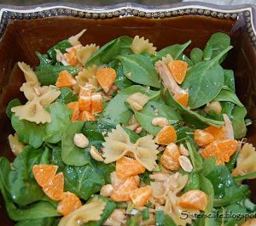
<path id="1" fill-rule="evenodd" d="M 131 42 L 131 50 L 134 54 L 141 54 L 143 52 L 148 52 L 148 54 L 155 54 L 156 48 L 153 43 L 149 43 L 148 39 L 145 40 L 144 37 L 134 37 Z"/>

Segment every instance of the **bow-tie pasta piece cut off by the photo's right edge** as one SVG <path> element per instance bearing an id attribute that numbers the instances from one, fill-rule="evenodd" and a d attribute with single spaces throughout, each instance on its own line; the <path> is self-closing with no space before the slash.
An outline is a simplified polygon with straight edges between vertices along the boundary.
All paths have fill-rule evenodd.
<path id="1" fill-rule="evenodd" d="M 232 176 L 242 176 L 250 172 L 256 171 L 256 151 L 253 144 L 244 144 L 239 152 L 236 168 L 232 172 Z M 256 178 L 256 177 L 253 177 Z M 253 179 L 250 178 L 250 179 Z"/>

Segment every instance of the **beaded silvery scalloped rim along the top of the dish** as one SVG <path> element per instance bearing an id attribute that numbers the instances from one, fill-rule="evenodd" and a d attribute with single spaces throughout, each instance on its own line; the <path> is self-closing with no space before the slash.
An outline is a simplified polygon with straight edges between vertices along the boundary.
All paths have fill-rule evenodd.
<path id="1" fill-rule="evenodd" d="M 136 16 L 146 19 L 164 19 L 186 15 L 200 15 L 217 19 L 238 20 L 246 22 L 248 36 L 256 49 L 255 18 L 256 9 L 253 5 L 236 7 L 218 6 L 207 3 L 177 3 L 160 7 L 125 3 L 104 8 L 86 7 L 73 3 L 50 3 L 30 8 L 0 5 L 0 37 L 3 37 L 6 26 L 11 20 L 35 20 L 44 17 L 71 16 L 86 20 L 104 20 L 125 16 Z"/>

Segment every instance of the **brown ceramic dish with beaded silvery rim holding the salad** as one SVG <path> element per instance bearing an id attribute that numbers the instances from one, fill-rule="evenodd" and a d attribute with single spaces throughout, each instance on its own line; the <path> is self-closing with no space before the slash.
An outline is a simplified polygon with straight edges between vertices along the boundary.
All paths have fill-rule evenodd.
<path id="1" fill-rule="evenodd" d="M 1 7 L 1 6 L 0 6 Z M 230 35 L 234 48 L 225 60 L 225 67 L 235 71 L 236 90 L 247 107 L 253 125 L 247 133 L 248 142 L 256 145 L 256 8 L 250 5 L 220 7 L 209 4 L 181 3 L 161 8 L 122 4 L 108 8 L 89 8 L 67 4 L 50 4 L 24 10 L 2 6 L 0 11 L 0 155 L 10 160 L 8 134 L 13 133 L 5 114 L 9 100 L 22 98 L 19 91 L 23 76 L 16 62 L 38 65 L 35 51 L 47 49 L 67 37 L 87 28 L 82 43 L 102 45 L 115 37 L 144 36 L 157 48 L 192 40 L 189 47 L 203 48 L 212 33 Z M 188 54 L 188 53 L 187 53 Z M 255 180 L 250 181 L 253 201 L 256 201 Z M 14 223 L 8 218 L 0 197 L 0 224 Z"/>

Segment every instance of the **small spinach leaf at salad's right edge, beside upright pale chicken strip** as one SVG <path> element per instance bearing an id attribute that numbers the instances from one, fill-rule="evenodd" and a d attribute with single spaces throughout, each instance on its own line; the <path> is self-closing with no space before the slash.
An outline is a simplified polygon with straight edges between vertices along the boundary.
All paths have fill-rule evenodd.
<path id="1" fill-rule="evenodd" d="M 247 116 L 245 107 L 235 106 L 232 110 L 231 121 L 235 138 L 243 138 L 247 134 L 247 127 L 244 121 L 245 116 Z"/>

